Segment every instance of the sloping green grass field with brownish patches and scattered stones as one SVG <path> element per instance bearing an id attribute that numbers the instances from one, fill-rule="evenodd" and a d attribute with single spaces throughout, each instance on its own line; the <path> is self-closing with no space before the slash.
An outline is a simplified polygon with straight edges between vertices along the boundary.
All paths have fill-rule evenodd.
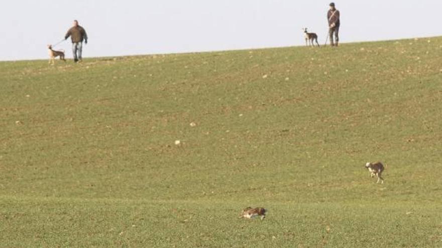
<path id="1" fill-rule="evenodd" d="M 427 38 L 2 62 L 0 247 L 442 247 L 441 56 Z"/>

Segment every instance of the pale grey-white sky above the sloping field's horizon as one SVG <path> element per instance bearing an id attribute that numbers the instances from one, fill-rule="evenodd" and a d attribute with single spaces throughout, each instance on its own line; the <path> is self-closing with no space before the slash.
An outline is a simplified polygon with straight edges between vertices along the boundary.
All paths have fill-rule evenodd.
<path id="1" fill-rule="evenodd" d="M 77 19 L 83 57 L 324 44 L 330 0 L 11 0 L 0 7 L 0 60 L 47 59 Z M 337 0 L 341 42 L 441 36 L 442 0 Z M 72 58 L 70 40 L 57 49 Z"/>

